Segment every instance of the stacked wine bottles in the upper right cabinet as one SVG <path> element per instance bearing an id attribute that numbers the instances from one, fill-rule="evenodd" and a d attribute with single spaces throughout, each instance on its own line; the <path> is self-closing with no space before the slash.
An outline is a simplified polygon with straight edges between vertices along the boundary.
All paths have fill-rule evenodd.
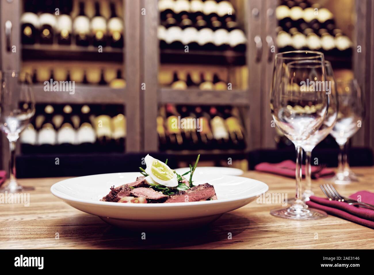
<path id="1" fill-rule="evenodd" d="M 282 0 L 276 8 L 279 51 L 321 51 L 335 69 L 352 68 L 352 40 L 318 1 Z"/>

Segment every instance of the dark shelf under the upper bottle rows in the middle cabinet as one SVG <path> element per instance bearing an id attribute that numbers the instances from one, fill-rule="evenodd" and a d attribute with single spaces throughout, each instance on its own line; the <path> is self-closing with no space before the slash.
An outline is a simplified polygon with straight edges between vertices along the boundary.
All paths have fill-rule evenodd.
<path id="1" fill-rule="evenodd" d="M 171 64 L 245 65 L 245 52 L 160 49 L 160 62 Z"/>

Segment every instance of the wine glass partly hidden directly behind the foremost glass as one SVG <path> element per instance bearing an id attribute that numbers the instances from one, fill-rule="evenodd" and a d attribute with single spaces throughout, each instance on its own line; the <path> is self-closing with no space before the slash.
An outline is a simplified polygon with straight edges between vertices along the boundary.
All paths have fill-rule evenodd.
<path id="1" fill-rule="evenodd" d="M 314 193 L 312 191 L 312 150 L 314 147 L 317 146 L 318 143 L 320 143 L 322 140 L 324 140 L 328 134 L 331 132 L 331 129 L 334 127 L 337 114 L 338 114 L 338 97 L 337 97 L 337 91 L 335 88 L 335 78 L 334 78 L 334 72 L 332 71 L 332 66 L 329 61 L 325 61 L 325 67 L 326 67 L 326 78 L 328 81 L 328 88 L 329 92 L 328 98 L 329 98 L 329 106 L 327 111 L 327 116 L 322 123 L 321 127 L 315 131 L 313 134 L 310 135 L 309 138 L 307 138 L 301 147 L 303 147 L 305 151 L 305 188 L 304 188 L 304 194 L 303 198 L 304 201 L 309 201 L 309 197 L 313 196 Z"/>

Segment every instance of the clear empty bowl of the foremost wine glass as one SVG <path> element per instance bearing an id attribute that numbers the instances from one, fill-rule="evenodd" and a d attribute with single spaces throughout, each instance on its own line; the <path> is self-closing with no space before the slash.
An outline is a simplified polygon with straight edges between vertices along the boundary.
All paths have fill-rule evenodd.
<path id="1" fill-rule="evenodd" d="M 321 62 L 318 57 L 306 60 L 291 58 L 282 60 L 282 66 L 275 68 L 283 77 L 273 79 L 270 110 L 278 128 L 293 143 L 306 140 L 322 125 L 327 114 L 325 87 L 308 85 L 317 80 L 325 81 L 319 80 L 325 79 L 325 68 Z M 323 91 L 318 91 L 320 88 Z M 276 90 L 280 93 L 277 94 Z"/>

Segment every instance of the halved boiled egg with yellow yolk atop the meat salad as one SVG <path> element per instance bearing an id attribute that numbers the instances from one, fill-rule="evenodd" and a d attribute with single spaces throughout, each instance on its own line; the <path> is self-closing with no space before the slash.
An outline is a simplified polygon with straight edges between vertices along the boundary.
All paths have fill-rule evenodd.
<path id="1" fill-rule="evenodd" d="M 150 176 L 151 180 L 167 187 L 178 186 L 177 175 L 164 162 L 152 158 L 150 155 L 145 156 L 144 161 L 145 165 L 147 165 L 145 172 Z"/>

